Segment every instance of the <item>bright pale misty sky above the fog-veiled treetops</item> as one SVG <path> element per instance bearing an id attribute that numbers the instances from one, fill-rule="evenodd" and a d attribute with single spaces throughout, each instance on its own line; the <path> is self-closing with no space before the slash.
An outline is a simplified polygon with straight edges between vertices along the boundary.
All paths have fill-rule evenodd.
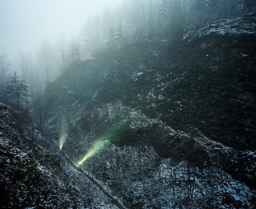
<path id="1" fill-rule="evenodd" d="M 0 0 L 0 51 L 9 60 L 18 50 L 35 53 L 42 40 L 79 37 L 87 17 L 121 0 Z"/>

